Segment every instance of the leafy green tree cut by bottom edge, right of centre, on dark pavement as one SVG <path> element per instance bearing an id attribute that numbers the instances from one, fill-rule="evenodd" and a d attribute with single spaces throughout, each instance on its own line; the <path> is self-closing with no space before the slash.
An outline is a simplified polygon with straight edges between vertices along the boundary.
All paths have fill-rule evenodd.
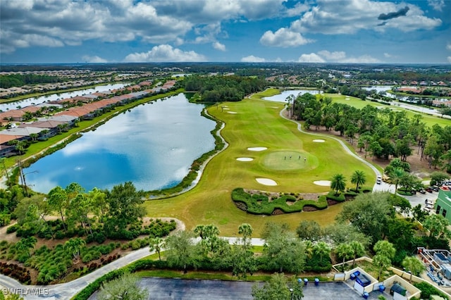
<path id="1" fill-rule="evenodd" d="M 252 286 L 252 297 L 255 300 L 286 300 L 286 299 L 302 299 L 302 285 L 292 277 L 290 285 L 283 273 L 274 273 L 271 279 L 265 282 L 263 287 L 258 284 Z"/>

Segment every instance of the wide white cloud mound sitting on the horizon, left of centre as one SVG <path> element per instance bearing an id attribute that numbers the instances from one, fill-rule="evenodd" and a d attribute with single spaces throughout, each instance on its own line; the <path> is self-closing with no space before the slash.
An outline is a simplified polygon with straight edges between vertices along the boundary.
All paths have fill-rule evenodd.
<path id="1" fill-rule="evenodd" d="M 194 51 L 182 51 L 168 44 L 154 46 L 152 50 L 141 53 L 128 54 L 125 62 L 179 62 L 179 61 L 206 61 L 205 56 Z"/>

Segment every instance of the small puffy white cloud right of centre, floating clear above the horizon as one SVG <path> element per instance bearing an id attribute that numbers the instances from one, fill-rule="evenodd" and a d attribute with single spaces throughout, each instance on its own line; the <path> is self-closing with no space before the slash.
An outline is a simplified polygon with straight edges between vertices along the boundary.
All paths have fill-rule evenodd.
<path id="1" fill-rule="evenodd" d="M 275 47 L 295 47 L 312 42 L 305 39 L 299 32 L 293 32 L 288 28 L 280 28 L 276 32 L 266 31 L 260 38 L 260 43 L 264 46 Z"/>

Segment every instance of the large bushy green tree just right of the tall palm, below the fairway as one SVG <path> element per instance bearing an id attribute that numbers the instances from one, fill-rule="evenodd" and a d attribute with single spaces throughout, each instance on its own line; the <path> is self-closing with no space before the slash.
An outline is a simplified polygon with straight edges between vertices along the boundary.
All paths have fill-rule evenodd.
<path id="1" fill-rule="evenodd" d="M 305 261 L 304 244 L 288 230 L 288 224 L 266 223 L 261 237 L 265 239 L 263 258 L 268 268 L 282 273 L 302 271 Z"/>

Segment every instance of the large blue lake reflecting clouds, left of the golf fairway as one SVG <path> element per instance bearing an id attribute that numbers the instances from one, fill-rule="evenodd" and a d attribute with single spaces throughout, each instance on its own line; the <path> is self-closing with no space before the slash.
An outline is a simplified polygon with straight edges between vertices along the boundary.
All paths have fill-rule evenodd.
<path id="1" fill-rule="evenodd" d="M 87 191 L 126 181 L 144 190 L 178 185 L 214 149 L 216 123 L 200 115 L 203 108 L 178 94 L 125 111 L 25 168 L 27 186 L 47 193 L 71 182 Z"/>

